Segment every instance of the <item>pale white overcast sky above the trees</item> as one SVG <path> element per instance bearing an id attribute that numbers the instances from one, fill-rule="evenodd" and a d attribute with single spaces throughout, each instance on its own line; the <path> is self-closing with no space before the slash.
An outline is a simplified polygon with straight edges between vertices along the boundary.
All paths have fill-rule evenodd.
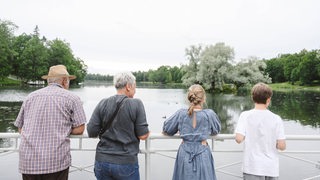
<path id="1" fill-rule="evenodd" d="M 89 73 L 188 61 L 191 45 L 224 42 L 235 60 L 320 49 L 319 0 L 0 0 L 0 19 L 68 42 Z"/>

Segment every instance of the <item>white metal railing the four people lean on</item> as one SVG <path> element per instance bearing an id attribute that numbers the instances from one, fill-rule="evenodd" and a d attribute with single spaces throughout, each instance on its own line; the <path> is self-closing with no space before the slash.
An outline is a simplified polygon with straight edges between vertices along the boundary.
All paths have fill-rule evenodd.
<path id="1" fill-rule="evenodd" d="M 19 138 L 20 138 L 20 134 L 19 133 L 0 133 L 0 139 L 14 139 L 14 144 L 10 147 L 0 147 L 0 156 L 2 156 L 1 154 L 5 154 L 5 153 L 1 153 L 1 152 L 15 152 L 15 151 L 19 151 Z M 72 147 L 71 150 L 72 151 L 95 151 L 95 147 L 94 148 L 84 148 L 83 147 L 83 139 L 88 139 L 89 137 L 87 135 L 71 135 L 70 138 L 75 139 L 78 141 L 78 146 L 77 147 Z M 212 136 L 209 138 L 209 140 L 211 141 L 211 147 L 212 147 L 212 151 L 214 152 L 241 152 L 242 150 L 232 150 L 232 149 L 220 149 L 220 150 L 216 150 L 214 147 L 214 141 L 224 141 L 224 140 L 233 140 L 235 138 L 234 134 L 219 134 L 217 136 Z M 177 149 L 156 149 L 156 148 L 152 148 L 151 146 L 151 142 L 153 140 L 159 140 L 159 139 L 180 139 L 180 137 L 178 135 L 175 136 L 165 136 L 161 133 L 151 133 L 149 138 L 146 139 L 145 141 L 145 148 L 140 150 L 140 153 L 145 155 L 145 179 L 146 180 L 150 180 L 150 165 L 151 165 L 151 154 L 155 154 L 155 153 L 161 153 L 161 152 L 176 152 Z M 287 141 L 291 141 L 291 140 L 298 140 L 298 141 L 320 141 L 320 135 L 287 135 L 286 136 L 286 140 Z M 310 163 L 315 165 L 317 168 L 320 169 L 320 162 L 319 161 L 311 161 L 311 160 L 307 160 L 307 159 L 303 159 L 300 157 L 294 157 L 289 155 L 290 153 L 303 153 L 303 154 L 320 154 L 320 150 L 314 150 L 314 151 L 307 151 L 307 150 L 303 150 L 303 151 L 283 151 L 281 152 L 281 155 L 289 157 L 289 158 L 293 158 L 299 161 L 303 161 L 306 163 Z M 320 160 L 320 159 L 319 159 Z M 234 164 L 239 164 L 241 162 L 235 162 L 235 163 L 231 163 L 228 165 L 223 165 L 220 167 L 216 167 L 216 170 L 221 172 L 221 173 L 225 173 L 225 174 L 229 174 L 232 175 L 234 177 L 238 177 L 241 178 L 240 176 L 222 171 L 222 168 L 225 168 L 227 166 L 232 166 Z M 89 167 L 89 166 L 87 166 Z M 88 171 L 86 170 L 87 167 L 75 167 L 77 170 L 80 171 L 87 171 L 87 172 L 92 172 L 92 171 Z M 320 173 L 320 172 L 319 172 Z M 314 177 L 309 177 L 309 178 L 305 178 L 304 180 L 311 180 L 311 179 L 315 179 L 315 178 L 319 178 L 320 174 Z"/>

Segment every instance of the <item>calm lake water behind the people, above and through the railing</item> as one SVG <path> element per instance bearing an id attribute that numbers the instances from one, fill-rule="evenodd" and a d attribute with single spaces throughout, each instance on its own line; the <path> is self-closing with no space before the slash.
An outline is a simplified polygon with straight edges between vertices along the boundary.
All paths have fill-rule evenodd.
<path id="1" fill-rule="evenodd" d="M 19 112 L 21 102 L 25 97 L 36 88 L 2 88 L 0 89 L 0 132 L 16 132 L 17 129 L 13 126 L 13 122 Z M 87 82 L 80 88 L 71 88 L 73 93 L 81 97 L 83 106 L 86 112 L 87 119 L 90 118 L 96 104 L 105 97 L 112 96 L 116 93 L 114 87 L 110 83 L 92 83 Z M 186 90 L 185 89 L 170 89 L 170 88 L 159 88 L 159 87 L 146 87 L 139 86 L 135 95 L 143 101 L 147 120 L 149 123 L 150 130 L 154 133 L 160 133 L 162 131 L 162 125 L 165 118 L 169 117 L 176 110 L 187 107 L 186 102 Z M 208 108 L 213 109 L 220 117 L 222 123 L 223 134 L 232 134 L 234 132 L 237 119 L 239 114 L 253 107 L 252 101 L 247 93 L 234 95 L 234 94 L 207 94 L 207 105 Z M 290 135 L 319 135 L 320 134 L 320 93 L 318 92 L 274 92 L 272 98 L 272 104 L 269 108 L 271 111 L 279 114 L 284 121 L 285 133 Z M 6 146 L 6 141 L 0 141 L 0 146 Z M 143 142 L 142 142 L 143 143 Z M 173 143 L 174 147 L 178 147 L 179 142 Z M 157 145 L 155 143 L 155 145 Z M 158 146 L 170 147 L 169 143 L 160 143 Z M 292 142 L 288 143 L 288 149 L 295 150 L 299 144 Z M 316 148 L 320 149 L 320 142 L 303 142 L 303 147 L 308 149 Z M 219 148 L 231 148 L 241 149 L 241 145 L 237 145 L 232 142 L 217 142 L 215 144 L 217 149 Z M 73 157 L 79 157 L 83 155 L 77 155 L 78 152 L 73 153 Z M 175 153 L 169 156 L 174 157 Z M 224 163 L 234 161 L 234 159 L 241 161 L 241 154 L 236 153 L 232 155 L 225 154 L 219 155 L 214 153 L 216 167 L 222 166 Z M 312 161 L 320 161 L 318 155 L 306 155 L 306 158 L 312 159 Z M 2 157 L 3 158 L 3 157 Z M 89 152 L 87 156 L 88 161 L 92 163 L 94 159 L 94 153 Z M 143 160 L 143 155 L 139 155 L 139 158 Z M 13 163 L 7 160 L 7 163 Z M 140 161 L 140 160 L 139 160 Z M 174 159 L 165 160 L 162 156 L 153 155 L 151 165 L 151 177 L 152 179 L 170 179 Z M 78 158 L 73 158 L 73 162 L 77 163 Z M 299 165 L 298 168 L 301 173 L 290 175 L 288 171 L 296 169 L 294 164 Z M 2 163 L 3 164 L 3 163 Z M 164 167 L 162 167 L 164 165 Z M 17 168 L 17 162 L 13 163 L 14 168 Z M 304 177 L 313 174 L 319 174 L 320 170 L 313 165 L 304 165 L 301 161 L 292 161 L 287 157 L 282 157 L 280 166 L 285 166 L 285 171 L 281 172 L 281 177 L 284 179 L 303 179 Z M 301 167 L 302 166 L 302 167 Z M 1 167 L 0 167 L 1 169 Z M 144 164 L 140 163 L 140 169 L 144 169 Z M 235 174 L 241 175 L 241 164 L 231 166 L 227 169 L 228 171 L 234 172 Z M 6 171 L 2 171 L 1 174 L 5 174 Z M 17 171 L 14 171 L 17 172 Z M 165 173 L 164 173 L 165 172 Z M 285 175 L 288 174 L 289 175 Z M 9 174 L 9 173 L 8 173 Z M 10 173 L 12 175 L 12 173 Z M 142 179 L 143 179 L 143 173 Z M 164 176 L 164 174 L 166 174 Z M 219 179 L 237 179 L 227 176 L 223 173 L 217 173 Z M 1 176 L 1 175 L 0 175 Z M 8 175 L 9 176 L 9 175 Z M 12 177 L 12 176 L 10 176 Z M 83 175 L 83 172 L 78 174 L 71 173 L 70 178 L 74 179 L 94 179 L 92 174 Z M 1 178 L 2 179 L 2 178 Z M 15 178 L 13 178 L 15 179 Z"/>

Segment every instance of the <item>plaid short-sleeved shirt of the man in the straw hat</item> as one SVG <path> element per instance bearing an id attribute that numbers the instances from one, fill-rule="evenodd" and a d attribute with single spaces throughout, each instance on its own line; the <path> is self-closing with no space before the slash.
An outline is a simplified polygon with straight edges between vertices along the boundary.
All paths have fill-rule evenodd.
<path id="1" fill-rule="evenodd" d="M 28 95 L 14 123 L 22 128 L 20 173 L 48 174 L 67 169 L 71 165 L 71 129 L 85 122 L 80 98 L 58 84 Z"/>

